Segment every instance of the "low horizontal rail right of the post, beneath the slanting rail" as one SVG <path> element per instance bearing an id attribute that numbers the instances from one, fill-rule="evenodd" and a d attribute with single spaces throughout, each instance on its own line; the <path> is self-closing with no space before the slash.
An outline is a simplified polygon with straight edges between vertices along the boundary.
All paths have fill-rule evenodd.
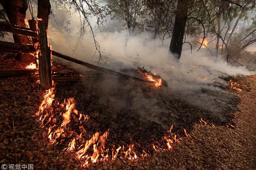
<path id="1" fill-rule="evenodd" d="M 30 80 L 32 81 L 38 81 L 39 80 L 39 75 L 32 74 L 29 77 Z M 67 81 L 100 81 L 100 80 L 113 80 L 116 79 L 115 77 L 70 77 L 70 76 L 52 76 L 51 79 L 54 82 L 67 82 Z M 120 77 L 120 79 L 125 79 Z M 125 79 L 126 80 L 126 79 Z"/>

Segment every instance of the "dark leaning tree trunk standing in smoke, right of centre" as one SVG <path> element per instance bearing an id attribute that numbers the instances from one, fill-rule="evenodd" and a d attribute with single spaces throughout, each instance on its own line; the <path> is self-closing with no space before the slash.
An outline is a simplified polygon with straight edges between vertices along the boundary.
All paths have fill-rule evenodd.
<path id="1" fill-rule="evenodd" d="M 182 54 L 182 44 L 186 22 L 188 19 L 189 2 L 190 0 L 178 0 L 178 6 L 169 49 L 169 58 L 171 58 L 170 54 L 174 54 L 177 61 L 179 61 Z"/>

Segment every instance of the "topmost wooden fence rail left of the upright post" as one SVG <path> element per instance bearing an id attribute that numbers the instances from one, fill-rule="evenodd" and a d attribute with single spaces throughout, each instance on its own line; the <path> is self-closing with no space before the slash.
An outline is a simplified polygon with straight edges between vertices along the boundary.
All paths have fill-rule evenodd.
<path id="1" fill-rule="evenodd" d="M 13 27 L 14 31 L 19 35 L 24 35 L 24 36 L 29 36 L 29 37 L 38 37 L 37 33 L 35 31 L 33 31 L 32 29 L 14 26 L 14 25 L 12 25 L 12 27 Z M 13 33 L 10 25 L 6 24 L 4 22 L 0 22 L 0 31 Z"/>

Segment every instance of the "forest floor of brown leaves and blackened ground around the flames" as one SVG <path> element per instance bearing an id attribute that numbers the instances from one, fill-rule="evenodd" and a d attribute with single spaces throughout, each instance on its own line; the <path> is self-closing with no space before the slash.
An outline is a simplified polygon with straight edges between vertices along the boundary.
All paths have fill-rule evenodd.
<path id="1" fill-rule="evenodd" d="M 106 147 L 131 143 L 132 139 L 137 152 L 141 148 L 150 154 L 132 161 L 92 164 L 85 169 L 254 170 L 256 76 L 233 81 L 242 89 L 228 90 L 236 96 L 202 86 L 189 93 L 189 101 L 188 94 L 177 90 L 156 89 L 131 80 L 59 83 L 56 100 L 74 97 L 76 109 L 90 116 L 86 122 L 88 133 L 109 128 Z M 63 152 L 64 146 L 51 145 L 47 129 L 40 126 L 36 112 L 44 93 L 26 76 L 0 78 L 0 164 L 33 163 L 38 170 L 83 169 L 83 161 L 75 153 Z M 209 101 L 199 105 L 209 96 Z M 207 124 L 200 124 L 200 118 Z M 153 152 L 152 143 L 165 144 L 162 137 L 172 124 L 173 132 L 182 136 L 180 143 L 171 150 Z M 184 137 L 183 128 L 190 137 Z"/>

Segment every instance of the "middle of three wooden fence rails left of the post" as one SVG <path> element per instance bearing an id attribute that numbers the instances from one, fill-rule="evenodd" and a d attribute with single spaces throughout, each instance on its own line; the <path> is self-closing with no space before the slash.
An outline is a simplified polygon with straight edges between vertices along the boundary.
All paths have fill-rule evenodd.
<path id="1" fill-rule="evenodd" d="M 36 49 L 34 48 L 34 45 L 23 44 L 23 46 L 21 46 L 19 43 L 0 41 L 0 51 L 9 53 L 34 53 Z"/>

